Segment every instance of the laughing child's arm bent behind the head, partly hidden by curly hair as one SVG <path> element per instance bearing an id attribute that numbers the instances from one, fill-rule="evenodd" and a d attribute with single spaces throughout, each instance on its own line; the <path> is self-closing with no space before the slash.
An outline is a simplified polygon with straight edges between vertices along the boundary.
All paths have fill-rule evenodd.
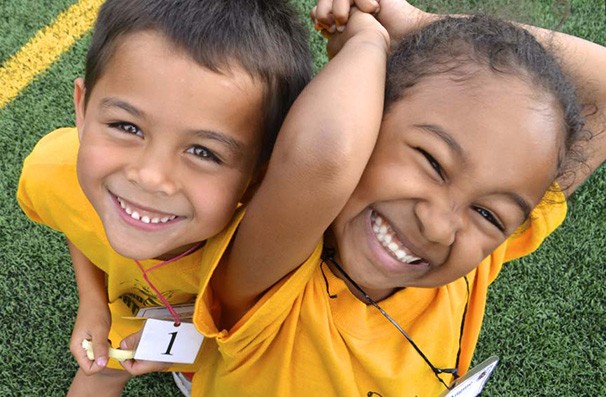
<path id="1" fill-rule="evenodd" d="M 319 0 L 314 17 L 326 31 L 331 24 L 343 26 L 348 22 L 349 4 L 365 9 L 375 0 Z M 404 0 L 381 0 L 377 19 L 397 42 L 410 32 L 440 18 L 413 7 Z M 581 103 L 588 105 L 586 128 L 593 135 L 583 149 L 587 157 L 575 171 L 574 181 L 563 181 L 564 193 L 570 196 L 589 175 L 606 161 L 606 47 L 565 33 L 521 25 L 543 45 L 554 51 L 564 71 L 577 87 Z M 593 110 L 597 110 L 593 112 Z"/>

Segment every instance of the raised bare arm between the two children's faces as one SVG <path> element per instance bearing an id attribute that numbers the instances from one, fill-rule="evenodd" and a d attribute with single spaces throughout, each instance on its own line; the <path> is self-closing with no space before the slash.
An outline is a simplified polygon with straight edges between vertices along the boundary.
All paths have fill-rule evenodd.
<path id="1" fill-rule="evenodd" d="M 389 37 L 354 12 L 341 52 L 292 106 L 213 291 L 229 327 L 303 263 L 357 185 L 378 134 Z"/>

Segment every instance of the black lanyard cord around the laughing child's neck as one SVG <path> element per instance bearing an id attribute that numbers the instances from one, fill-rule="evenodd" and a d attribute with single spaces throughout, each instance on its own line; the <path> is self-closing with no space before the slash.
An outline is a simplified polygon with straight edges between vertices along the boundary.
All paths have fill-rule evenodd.
<path id="1" fill-rule="evenodd" d="M 328 260 L 330 263 L 332 263 L 337 270 L 339 270 L 339 272 L 343 275 L 343 277 L 345 277 L 347 279 L 347 281 L 349 281 L 351 283 L 351 285 L 354 286 L 355 289 L 357 289 L 363 296 L 364 299 L 366 299 L 366 301 L 368 303 L 370 303 L 372 306 L 374 306 L 375 308 L 377 308 L 377 310 L 379 310 L 379 312 L 381 312 L 381 314 L 387 318 L 389 320 L 389 322 L 391 322 L 393 324 L 394 327 L 396 327 L 396 329 L 398 331 L 400 331 L 400 333 L 402 335 L 404 335 L 404 337 L 406 338 L 406 340 L 408 342 L 410 342 L 410 344 L 412 345 L 412 347 L 417 351 L 417 353 L 419 353 L 419 355 L 421 356 L 421 358 L 423 358 L 423 360 L 425 361 L 425 363 L 427 363 L 427 365 L 431 368 L 432 372 L 434 373 L 434 375 L 436 376 L 436 378 L 438 378 L 438 380 L 440 381 L 440 383 L 442 383 L 444 385 L 444 387 L 446 387 L 446 389 L 451 390 L 451 388 L 446 384 L 446 382 L 444 382 L 442 380 L 442 378 L 440 378 L 438 375 L 441 373 L 448 373 L 448 374 L 452 374 L 455 379 L 459 377 L 458 374 L 458 370 L 457 368 L 437 368 L 435 367 L 431 361 L 429 361 L 429 359 L 427 358 L 427 356 L 423 353 L 423 351 L 421 351 L 421 349 L 417 346 L 417 344 L 412 340 L 412 338 L 410 337 L 410 335 L 408 335 L 408 333 L 406 331 L 404 331 L 404 329 L 400 326 L 400 324 L 398 324 L 389 314 L 387 314 L 387 312 L 385 310 L 383 310 L 383 308 L 381 306 L 379 306 L 379 304 L 377 302 L 375 302 L 374 299 L 372 299 L 367 293 L 366 291 L 364 291 L 355 281 L 353 281 L 353 279 L 351 277 L 349 277 L 349 275 L 347 273 L 345 273 L 345 270 L 343 270 L 343 268 L 335 261 L 334 259 L 334 249 L 326 249 L 324 251 L 324 253 L 322 254 L 322 259 L 323 260 Z M 467 314 L 467 306 L 469 304 L 469 282 L 467 281 L 467 277 L 465 277 L 465 283 L 467 286 L 467 301 L 465 302 L 465 309 L 463 311 L 463 319 L 461 320 L 461 335 L 459 337 L 459 350 L 457 352 L 457 366 L 459 365 L 459 356 L 461 355 L 461 340 L 463 337 L 463 328 L 465 325 L 465 316 Z M 327 284 L 328 285 L 328 284 Z"/>

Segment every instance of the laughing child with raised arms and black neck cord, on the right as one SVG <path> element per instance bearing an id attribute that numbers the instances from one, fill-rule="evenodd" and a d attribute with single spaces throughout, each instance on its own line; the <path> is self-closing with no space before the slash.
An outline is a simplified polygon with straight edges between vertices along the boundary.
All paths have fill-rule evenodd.
<path id="1" fill-rule="evenodd" d="M 563 219 L 565 205 L 538 204 L 569 170 L 562 160 L 582 139 L 582 117 L 559 66 L 530 35 L 483 18 L 415 35 L 406 43 L 415 50 L 402 47 L 390 61 L 371 155 L 373 93 L 382 90 L 367 62 L 381 56 L 356 52 L 362 39 L 354 39 L 380 29 L 360 13 L 351 18 L 353 37 L 280 135 L 306 128 L 322 146 L 303 142 L 306 162 L 279 140 L 237 233 L 233 225 L 205 251 L 214 274 L 202 280 L 194 321 L 214 338 L 193 395 L 436 395 L 467 370 L 502 263 L 531 252 Z M 468 36 L 476 47 L 457 39 Z M 604 64 L 603 48 L 576 49 Z M 398 75 L 411 63 L 409 76 Z M 592 155 L 599 164 L 604 147 Z M 560 191 L 547 197 L 563 202 Z M 334 252 L 322 254 L 318 239 L 331 222 L 323 243 Z"/>

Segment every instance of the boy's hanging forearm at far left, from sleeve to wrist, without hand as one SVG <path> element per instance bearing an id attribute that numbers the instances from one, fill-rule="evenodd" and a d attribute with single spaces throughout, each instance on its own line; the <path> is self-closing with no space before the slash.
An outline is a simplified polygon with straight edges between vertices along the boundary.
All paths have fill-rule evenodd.
<path id="1" fill-rule="evenodd" d="M 95 266 L 69 240 L 67 241 L 67 247 L 74 265 L 74 274 L 76 277 L 76 285 L 78 286 L 80 305 L 107 305 L 107 289 L 105 286 L 105 273 L 103 270 Z"/>

